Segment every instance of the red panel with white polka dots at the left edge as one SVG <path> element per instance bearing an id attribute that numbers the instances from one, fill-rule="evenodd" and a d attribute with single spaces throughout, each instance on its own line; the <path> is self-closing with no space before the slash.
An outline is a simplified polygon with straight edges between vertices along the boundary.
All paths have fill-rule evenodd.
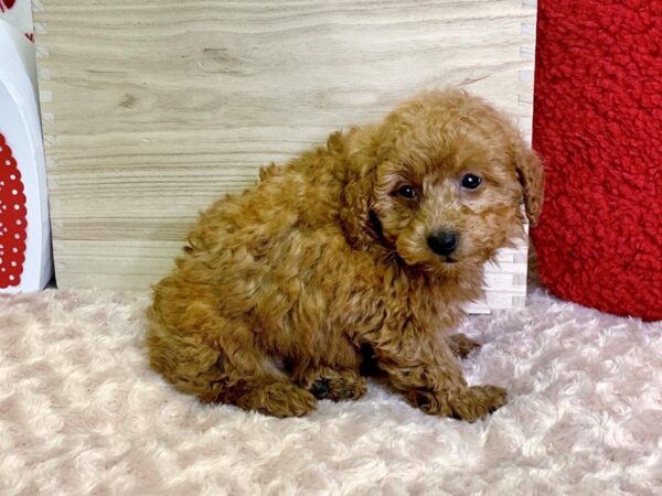
<path id="1" fill-rule="evenodd" d="M 25 194 L 17 161 L 0 133 L 0 288 L 21 282 L 25 261 Z"/>

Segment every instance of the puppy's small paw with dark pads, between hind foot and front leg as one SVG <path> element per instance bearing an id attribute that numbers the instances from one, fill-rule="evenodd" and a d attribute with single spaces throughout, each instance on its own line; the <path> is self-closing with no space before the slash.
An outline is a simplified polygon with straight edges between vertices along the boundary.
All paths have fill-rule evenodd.
<path id="1" fill-rule="evenodd" d="M 295 381 L 317 399 L 345 401 L 361 398 L 367 390 L 365 379 L 357 370 L 330 367 L 300 368 L 293 373 Z"/>

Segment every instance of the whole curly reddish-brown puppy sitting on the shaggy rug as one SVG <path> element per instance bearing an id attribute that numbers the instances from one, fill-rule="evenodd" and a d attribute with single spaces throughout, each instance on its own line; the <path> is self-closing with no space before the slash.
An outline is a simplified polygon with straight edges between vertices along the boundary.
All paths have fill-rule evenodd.
<path id="1" fill-rule="evenodd" d="M 202 214 L 154 288 L 156 370 L 277 417 L 361 397 L 366 355 L 428 413 L 474 421 L 505 402 L 462 377 L 453 351 L 476 344 L 438 333 L 522 234 L 522 201 L 532 224 L 541 211 L 541 166 L 508 120 L 463 91 L 426 93 L 260 179 Z"/>

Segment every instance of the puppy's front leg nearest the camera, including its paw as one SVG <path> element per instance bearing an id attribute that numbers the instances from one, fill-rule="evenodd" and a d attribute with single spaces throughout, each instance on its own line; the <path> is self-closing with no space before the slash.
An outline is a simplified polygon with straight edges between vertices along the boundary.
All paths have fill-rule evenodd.
<path id="1" fill-rule="evenodd" d="M 505 389 L 469 387 L 449 346 L 409 324 L 364 336 L 391 384 L 426 413 L 473 422 L 505 403 Z"/>

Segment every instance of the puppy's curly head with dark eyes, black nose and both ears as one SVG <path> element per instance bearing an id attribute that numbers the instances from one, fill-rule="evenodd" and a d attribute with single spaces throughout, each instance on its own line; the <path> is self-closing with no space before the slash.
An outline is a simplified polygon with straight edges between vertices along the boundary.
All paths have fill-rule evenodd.
<path id="1" fill-rule="evenodd" d="M 515 127 L 459 90 L 427 93 L 348 137 L 341 222 L 357 247 L 381 242 L 412 266 L 482 263 L 532 225 L 542 168 Z"/>

